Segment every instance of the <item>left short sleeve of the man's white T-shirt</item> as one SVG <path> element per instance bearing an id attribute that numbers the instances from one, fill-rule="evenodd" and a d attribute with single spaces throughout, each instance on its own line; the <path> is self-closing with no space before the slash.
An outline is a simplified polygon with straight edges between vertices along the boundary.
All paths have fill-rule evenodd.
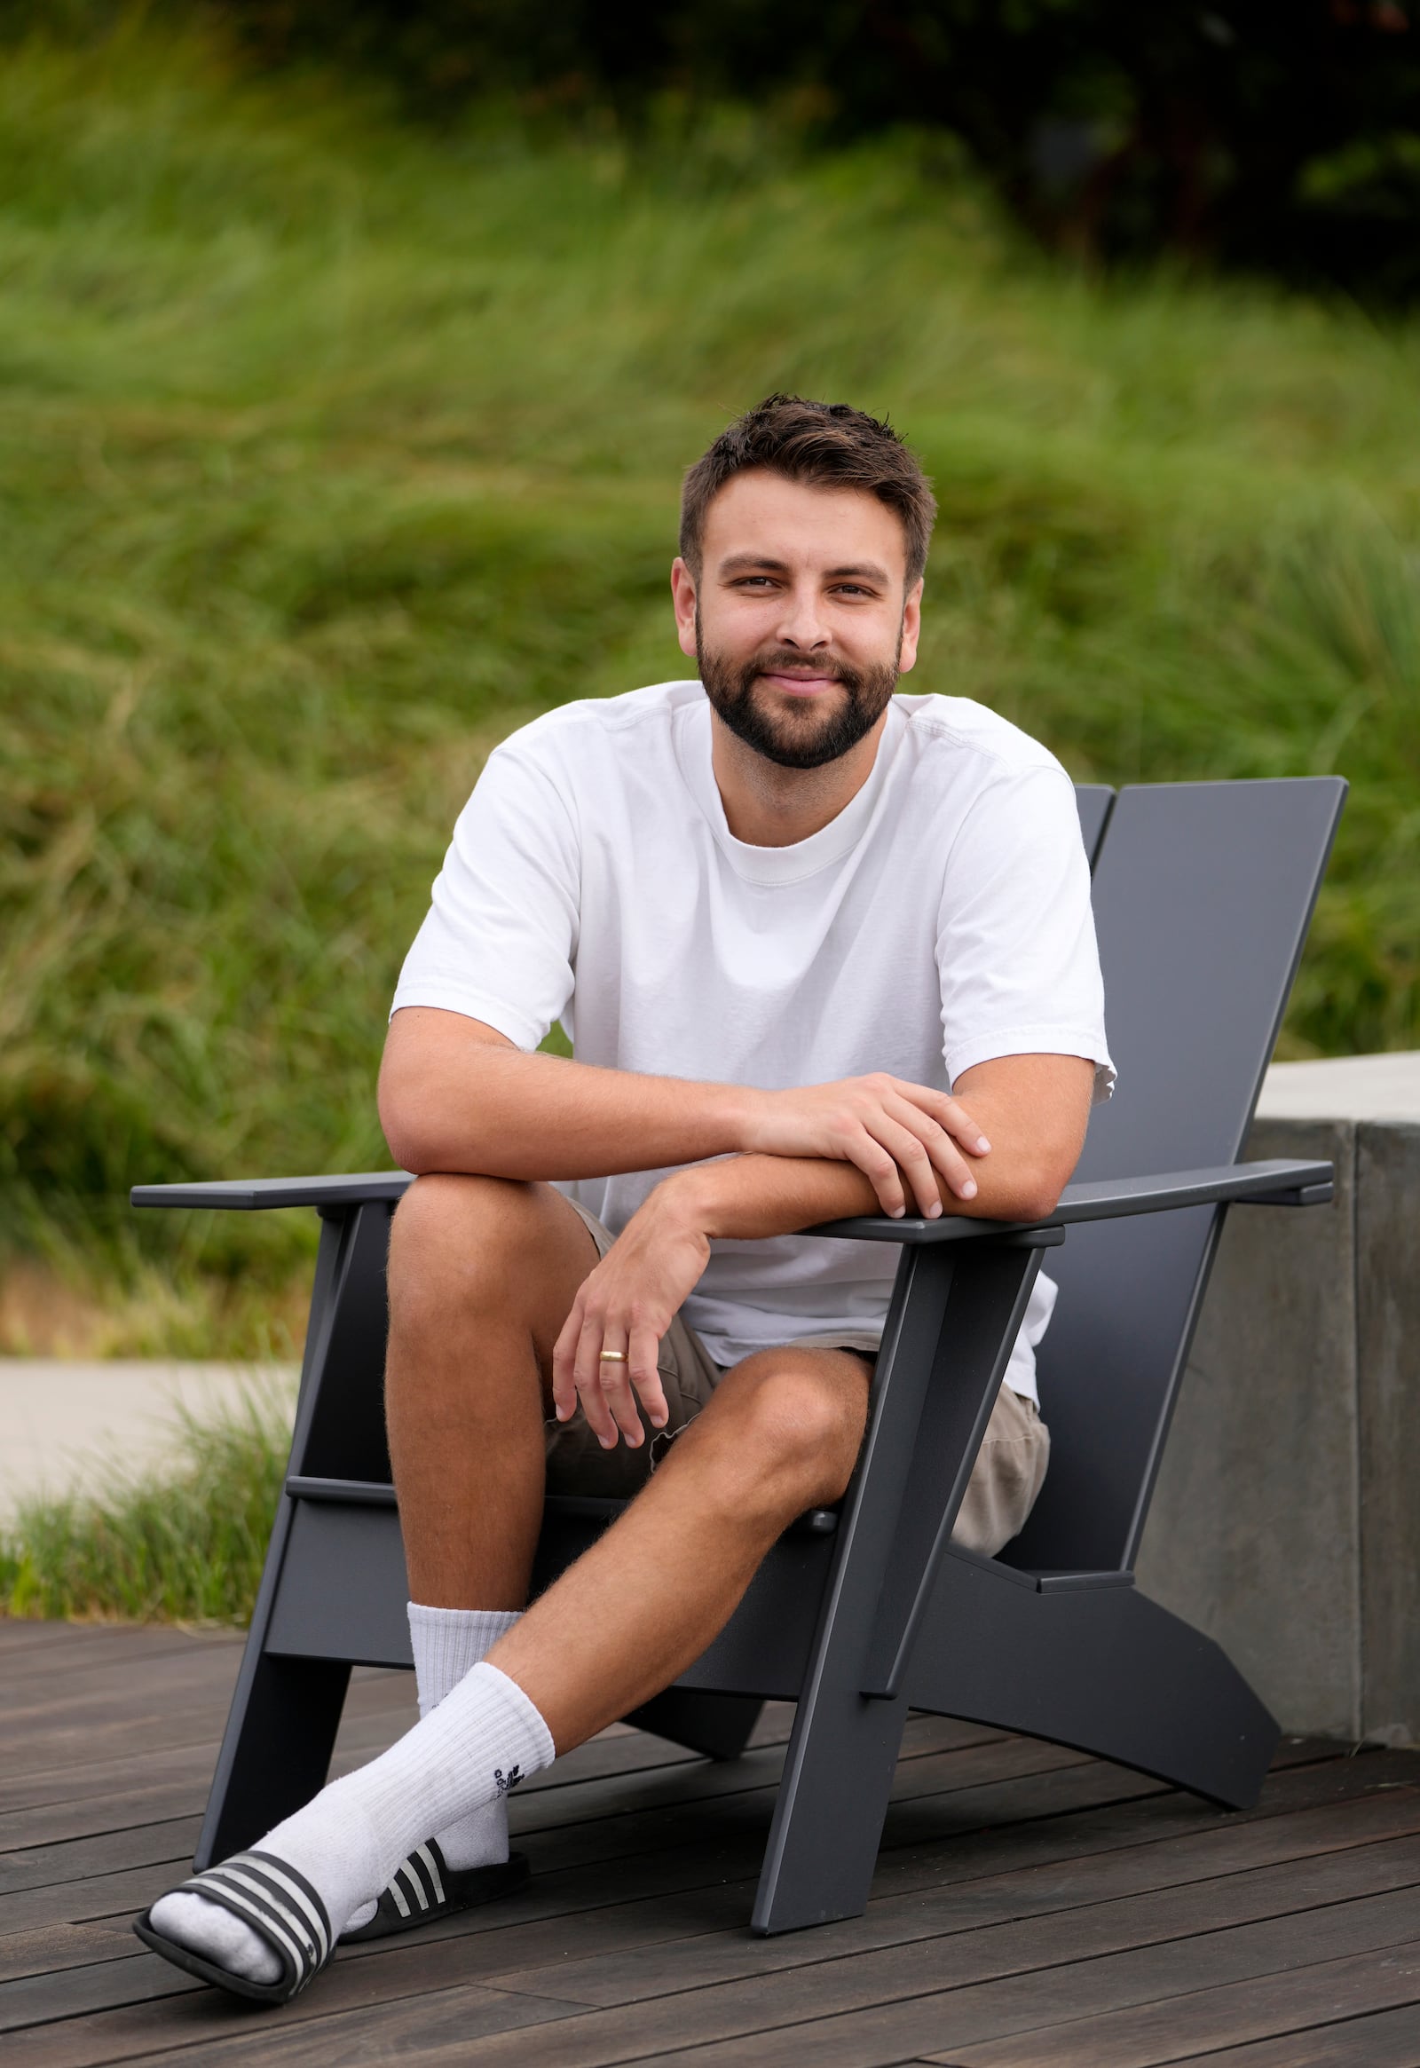
<path id="1" fill-rule="evenodd" d="M 554 776 L 498 747 L 455 825 L 391 1013 L 438 1005 L 535 1048 L 573 995 L 579 844 Z"/>

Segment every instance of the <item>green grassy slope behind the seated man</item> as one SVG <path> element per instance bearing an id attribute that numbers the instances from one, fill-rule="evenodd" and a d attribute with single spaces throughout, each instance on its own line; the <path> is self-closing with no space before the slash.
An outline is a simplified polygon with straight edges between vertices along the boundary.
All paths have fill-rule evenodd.
<path id="1" fill-rule="evenodd" d="M 1350 310 L 1052 269 L 909 141 L 802 165 L 728 118 L 632 163 L 200 48 L 8 60 L 8 1241 L 225 1272 L 256 1340 L 308 1235 L 141 1251 L 126 1185 L 387 1160 L 384 1001 L 480 759 L 682 670 L 678 474 L 773 387 L 936 476 L 914 689 L 1081 778 L 1352 776 L 1288 1038 L 1416 1042 L 1418 372 Z M 159 1305 L 134 1344 L 209 1346 Z"/>

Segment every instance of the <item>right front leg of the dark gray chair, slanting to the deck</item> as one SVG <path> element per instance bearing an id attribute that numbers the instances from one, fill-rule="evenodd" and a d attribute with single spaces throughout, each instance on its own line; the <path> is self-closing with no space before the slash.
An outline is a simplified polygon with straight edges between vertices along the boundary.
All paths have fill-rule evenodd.
<path id="1" fill-rule="evenodd" d="M 907 1721 L 874 1636 L 887 1632 L 893 1661 L 912 1650 L 1038 1268 L 1038 1249 L 986 1239 L 903 1249 L 769 1830 L 759 1934 L 860 1917 L 868 1903 Z"/>

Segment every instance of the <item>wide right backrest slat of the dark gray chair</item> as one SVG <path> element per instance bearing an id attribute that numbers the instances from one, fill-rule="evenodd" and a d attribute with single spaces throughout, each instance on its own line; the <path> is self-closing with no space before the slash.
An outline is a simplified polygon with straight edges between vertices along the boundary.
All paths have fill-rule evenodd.
<path id="1" fill-rule="evenodd" d="M 1337 778 L 1120 790 L 1093 879 L 1118 1090 L 1079 1179 L 1238 1158 L 1344 796 Z M 1220 1222 L 1098 1222 L 1050 1259 L 1050 1472 L 1011 1563 L 1133 1565 Z"/>

